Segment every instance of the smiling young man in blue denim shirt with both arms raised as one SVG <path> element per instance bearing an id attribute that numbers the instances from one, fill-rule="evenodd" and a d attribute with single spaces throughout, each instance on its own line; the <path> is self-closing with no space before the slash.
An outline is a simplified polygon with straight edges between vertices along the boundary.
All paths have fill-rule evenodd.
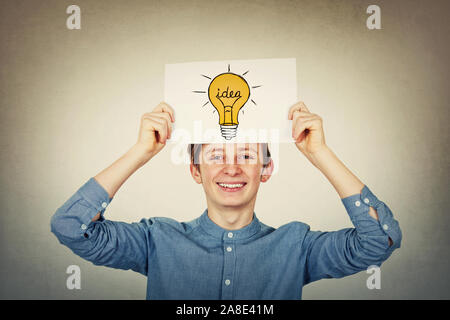
<path id="1" fill-rule="evenodd" d="M 392 212 L 325 144 L 319 116 L 299 102 L 287 117 L 297 148 L 336 189 L 355 228 L 261 223 L 256 195 L 273 170 L 266 144 L 191 146 L 191 174 L 207 199 L 197 219 L 104 219 L 120 186 L 170 138 L 174 112 L 162 103 L 142 116 L 138 142 L 56 211 L 52 232 L 96 265 L 146 275 L 147 299 L 301 299 L 307 283 L 380 265 L 400 247 Z"/>

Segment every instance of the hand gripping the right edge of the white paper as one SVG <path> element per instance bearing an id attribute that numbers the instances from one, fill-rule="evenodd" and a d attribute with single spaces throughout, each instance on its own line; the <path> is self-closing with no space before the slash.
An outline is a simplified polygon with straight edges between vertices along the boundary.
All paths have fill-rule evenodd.
<path id="1" fill-rule="evenodd" d="M 289 109 L 288 119 L 292 120 L 292 137 L 297 148 L 309 159 L 326 148 L 322 118 L 309 112 L 303 102 L 297 102 Z"/>

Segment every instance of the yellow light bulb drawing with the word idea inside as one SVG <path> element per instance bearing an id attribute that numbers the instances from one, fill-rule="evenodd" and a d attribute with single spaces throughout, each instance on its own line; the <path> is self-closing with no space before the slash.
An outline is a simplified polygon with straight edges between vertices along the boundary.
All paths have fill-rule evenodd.
<path id="1" fill-rule="evenodd" d="M 227 140 L 234 138 L 239 124 L 239 111 L 250 96 L 247 81 L 234 73 L 219 74 L 209 84 L 208 96 L 219 113 L 222 136 Z"/>

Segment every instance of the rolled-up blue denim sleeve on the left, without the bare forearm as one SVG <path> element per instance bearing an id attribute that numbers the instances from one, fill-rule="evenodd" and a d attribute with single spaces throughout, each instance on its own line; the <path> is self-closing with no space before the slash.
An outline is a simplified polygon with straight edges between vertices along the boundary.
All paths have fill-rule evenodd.
<path id="1" fill-rule="evenodd" d="M 51 231 L 75 254 L 118 269 L 147 274 L 148 226 L 151 221 L 125 223 L 105 220 L 112 198 L 90 178 L 51 218 Z M 100 219 L 92 219 L 100 212 Z"/>

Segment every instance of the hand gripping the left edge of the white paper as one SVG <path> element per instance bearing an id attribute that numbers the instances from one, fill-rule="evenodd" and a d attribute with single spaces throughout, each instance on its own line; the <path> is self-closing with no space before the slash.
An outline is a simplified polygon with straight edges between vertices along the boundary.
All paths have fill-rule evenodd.
<path id="1" fill-rule="evenodd" d="M 174 121 L 173 109 L 161 102 L 152 112 L 142 115 L 136 145 L 145 154 L 153 157 L 164 148 L 167 139 L 170 139 Z"/>

